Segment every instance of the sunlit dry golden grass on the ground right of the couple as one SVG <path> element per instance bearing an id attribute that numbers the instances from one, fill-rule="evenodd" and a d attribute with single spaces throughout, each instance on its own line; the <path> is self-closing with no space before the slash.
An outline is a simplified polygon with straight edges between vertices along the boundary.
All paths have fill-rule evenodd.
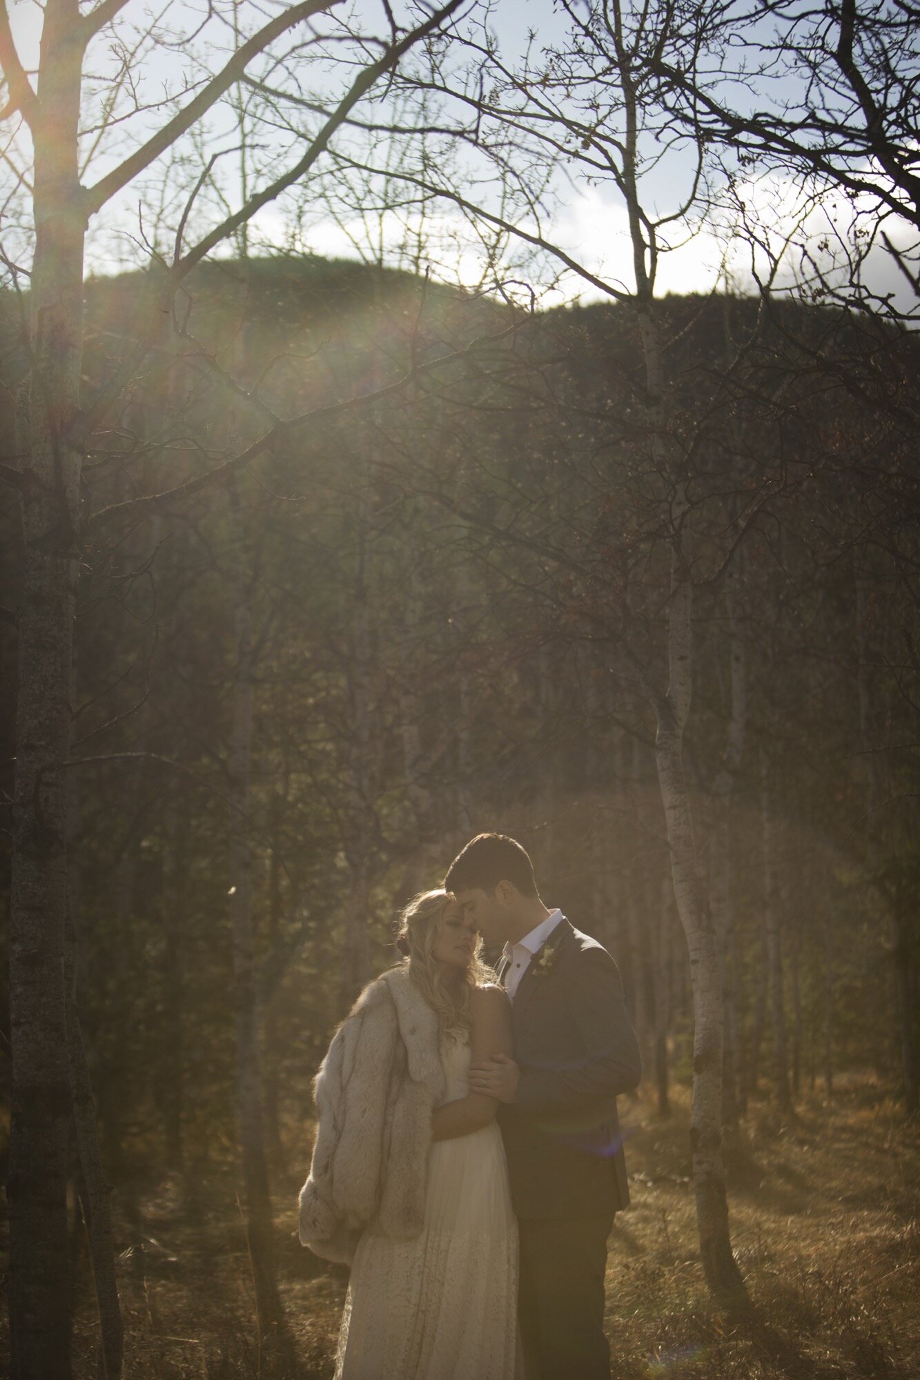
<path id="1" fill-rule="evenodd" d="M 727 1145 L 745 1321 L 702 1285 L 687 1107 L 656 1123 L 640 1104 L 633 1122 L 608 1268 L 616 1377 L 920 1376 L 920 1134 L 890 1103 L 858 1085 L 787 1125 L 764 1111 Z"/>

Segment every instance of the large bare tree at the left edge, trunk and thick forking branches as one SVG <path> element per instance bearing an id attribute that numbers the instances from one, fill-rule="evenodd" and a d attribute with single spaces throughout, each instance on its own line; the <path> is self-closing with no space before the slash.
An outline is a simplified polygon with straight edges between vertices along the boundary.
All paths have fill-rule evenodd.
<path id="1" fill-rule="evenodd" d="M 390 7 L 384 8 L 392 17 Z M 442 28 L 459 8 L 460 0 L 428 10 L 420 7 L 414 23 L 410 12 L 409 28 L 399 28 L 394 21 L 381 40 L 349 34 L 340 28 L 336 37 L 351 41 L 356 69 L 351 68 L 344 91 L 327 99 L 312 138 L 296 150 L 286 167 L 267 177 L 236 210 L 211 224 L 186 247 L 184 233 L 195 195 L 210 171 L 206 167 L 175 224 L 171 265 L 159 275 L 153 301 L 145 304 L 145 319 L 137 331 L 140 344 L 112 368 L 91 399 L 83 395 L 80 384 L 87 226 L 124 188 L 200 127 L 253 62 L 262 55 L 276 55 L 279 41 L 298 26 L 308 26 L 307 36 L 290 50 L 290 59 L 308 52 L 316 41 L 309 26 L 330 10 L 330 0 L 303 0 L 254 26 L 214 75 L 209 73 L 186 90 L 170 117 L 124 157 L 109 157 L 105 170 L 90 185 L 82 179 L 83 163 L 98 130 L 82 137 L 88 113 L 83 95 L 84 61 L 90 44 L 119 22 L 120 0 L 102 0 L 86 14 L 77 0 L 51 0 L 44 12 L 36 87 L 14 44 L 6 4 L 0 8 L 0 63 L 7 86 L 3 113 L 23 121 L 29 131 L 33 152 L 26 185 L 30 185 L 35 232 L 28 298 L 28 406 L 23 407 L 17 464 L 3 466 L 3 477 L 19 494 L 25 551 L 18 610 L 10 959 L 14 1075 L 7 1183 L 14 1369 L 22 1380 L 50 1374 L 66 1380 L 70 1374 L 62 1250 L 70 1105 L 62 956 L 69 684 L 73 588 L 84 518 L 83 460 L 155 338 L 157 319 L 170 309 L 178 282 L 258 210 L 304 178 L 362 97 L 392 72 L 405 52 Z M 152 43 L 152 32 L 149 39 Z M 145 112 L 145 117 L 149 120 L 151 113 Z M 105 102 L 102 120 L 105 123 Z M 113 127 L 116 123 L 112 121 Z M 268 440 L 262 440 L 262 448 L 265 446 Z M 220 473 L 220 466 L 215 471 Z"/>

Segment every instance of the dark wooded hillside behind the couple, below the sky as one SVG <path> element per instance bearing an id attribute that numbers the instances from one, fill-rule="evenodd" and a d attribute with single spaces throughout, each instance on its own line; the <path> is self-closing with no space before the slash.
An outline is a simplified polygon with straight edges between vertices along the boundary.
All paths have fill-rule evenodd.
<path id="1" fill-rule="evenodd" d="M 144 290 L 88 286 L 90 384 Z M 305 1165 L 329 1034 L 478 829 L 611 947 L 662 1112 L 693 1038 L 675 820 L 724 1123 L 866 1068 L 917 1110 L 916 346 L 792 302 L 655 312 L 660 407 L 629 305 L 214 264 L 84 466 L 68 829 L 104 1165 L 128 1217 L 163 1166 L 192 1210 L 239 1147 L 265 1322 L 268 1185 Z M 8 610 L 18 542 L 7 501 Z M 656 753 L 675 658 L 685 796 Z"/>

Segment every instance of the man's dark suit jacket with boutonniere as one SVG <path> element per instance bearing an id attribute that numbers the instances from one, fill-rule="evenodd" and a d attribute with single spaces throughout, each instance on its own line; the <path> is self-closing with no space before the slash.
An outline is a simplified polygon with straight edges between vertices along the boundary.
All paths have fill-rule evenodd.
<path id="1" fill-rule="evenodd" d="M 517 1101 L 499 1110 L 518 1217 L 595 1217 L 630 1201 L 616 1094 L 642 1067 L 616 963 L 564 918 L 512 1000 Z M 507 960 L 499 965 L 504 981 Z"/>

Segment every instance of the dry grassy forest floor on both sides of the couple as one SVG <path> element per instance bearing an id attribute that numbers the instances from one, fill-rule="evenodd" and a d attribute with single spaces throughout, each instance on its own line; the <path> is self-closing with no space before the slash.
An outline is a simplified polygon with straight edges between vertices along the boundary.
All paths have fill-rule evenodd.
<path id="1" fill-rule="evenodd" d="M 805 1100 L 785 1122 L 756 1107 L 728 1144 L 732 1236 L 754 1305 L 743 1321 L 714 1308 L 702 1281 L 687 1093 L 675 1090 L 667 1119 L 651 1100 L 622 1103 L 633 1203 L 606 1275 L 615 1380 L 920 1380 L 920 1127 L 872 1079 L 841 1081 L 832 1103 Z M 345 1272 L 297 1243 L 300 1158 L 278 1199 L 279 1276 L 300 1380 L 327 1380 Z M 137 1213 L 119 1224 L 127 1380 L 268 1380 L 232 1170 L 193 1213 L 171 1181 L 141 1194 Z M 94 1337 L 84 1285 L 80 1380 L 95 1374 Z"/>

